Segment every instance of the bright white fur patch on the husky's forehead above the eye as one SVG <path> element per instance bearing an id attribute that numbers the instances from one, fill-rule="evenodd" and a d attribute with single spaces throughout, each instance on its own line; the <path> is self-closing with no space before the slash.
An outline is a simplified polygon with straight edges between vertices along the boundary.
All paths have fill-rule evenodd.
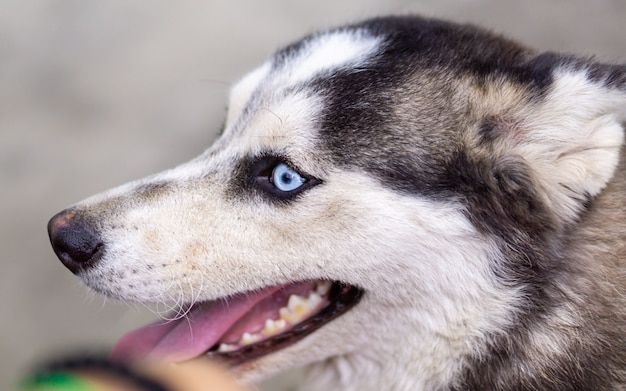
<path id="1" fill-rule="evenodd" d="M 293 144 L 291 138 L 306 135 L 320 117 L 327 91 L 316 81 L 367 67 L 382 44 L 382 36 L 355 28 L 316 34 L 279 51 L 232 88 L 225 133 L 240 136 L 236 145 L 244 150 Z"/>

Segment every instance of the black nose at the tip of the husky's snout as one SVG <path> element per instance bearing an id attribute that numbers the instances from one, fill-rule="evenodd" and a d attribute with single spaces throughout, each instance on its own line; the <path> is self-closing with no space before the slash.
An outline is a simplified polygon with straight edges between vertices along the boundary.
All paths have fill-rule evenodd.
<path id="1" fill-rule="evenodd" d="M 74 274 L 94 266 L 104 253 L 96 229 L 71 209 L 50 219 L 48 235 L 55 254 Z"/>

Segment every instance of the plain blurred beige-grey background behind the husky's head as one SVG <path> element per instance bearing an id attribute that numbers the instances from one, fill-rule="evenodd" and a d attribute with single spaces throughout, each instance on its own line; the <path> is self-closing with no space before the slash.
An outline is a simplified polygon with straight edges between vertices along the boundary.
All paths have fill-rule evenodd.
<path id="1" fill-rule="evenodd" d="M 49 217 L 200 153 L 228 86 L 276 48 L 407 12 L 626 62 L 626 0 L 0 0 L 0 389 L 42 357 L 108 349 L 154 318 L 65 270 Z"/>

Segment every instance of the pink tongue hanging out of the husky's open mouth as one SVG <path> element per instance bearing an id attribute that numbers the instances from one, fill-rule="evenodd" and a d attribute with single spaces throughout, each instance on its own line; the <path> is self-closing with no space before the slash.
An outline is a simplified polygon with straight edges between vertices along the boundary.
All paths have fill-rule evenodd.
<path id="1" fill-rule="evenodd" d="M 122 360 L 143 358 L 165 362 L 197 357 L 212 346 L 259 301 L 279 290 L 265 288 L 228 299 L 203 303 L 186 317 L 159 321 L 124 335 L 113 348 L 112 357 Z"/>

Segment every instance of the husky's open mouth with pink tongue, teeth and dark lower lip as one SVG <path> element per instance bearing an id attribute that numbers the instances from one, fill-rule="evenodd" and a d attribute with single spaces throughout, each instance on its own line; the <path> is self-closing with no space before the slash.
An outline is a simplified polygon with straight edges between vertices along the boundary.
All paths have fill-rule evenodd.
<path id="1" fill-rule="evenodd" d="M 185 317 L 126 334 L 113 357 L 180 362 L 208 355 L 234 366 L 292 345 L 347 312 L 362 296 L 355 286 L 319 280 L 197 303 Z"/>

